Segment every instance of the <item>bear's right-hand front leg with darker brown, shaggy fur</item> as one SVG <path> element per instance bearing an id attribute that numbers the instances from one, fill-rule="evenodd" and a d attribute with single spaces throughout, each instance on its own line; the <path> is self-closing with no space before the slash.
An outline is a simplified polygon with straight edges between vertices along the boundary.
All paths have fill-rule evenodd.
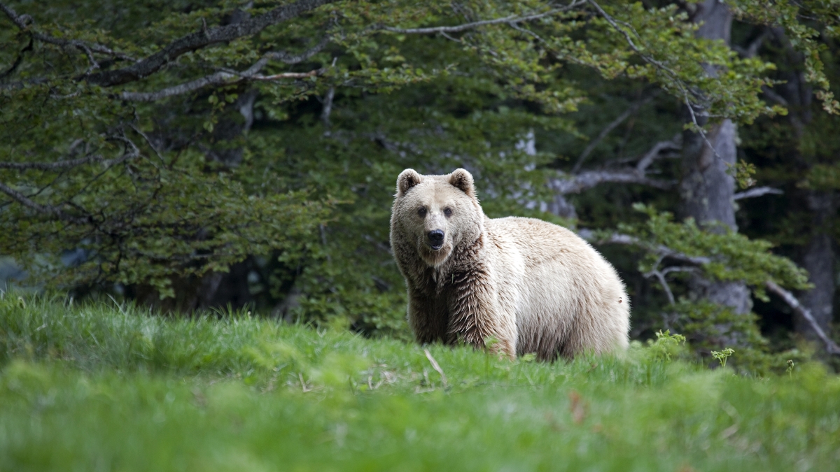
<path id="1" fill-rule="evenodd" d="M 449 295 L 449 342 L 459 339 L 476 347 L 486 347 L 489 338 L 496 343 L 490 351 L 517 355 L 517 326 L 513 313 L 507 313 L 498 302 L 498 292 L 486 270 L 480 268 L 452 275 Z"/>

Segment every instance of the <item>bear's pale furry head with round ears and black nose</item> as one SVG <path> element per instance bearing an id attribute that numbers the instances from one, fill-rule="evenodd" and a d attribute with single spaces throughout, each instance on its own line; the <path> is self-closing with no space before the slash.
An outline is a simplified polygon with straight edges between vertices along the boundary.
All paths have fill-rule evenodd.
<path id="1" fill-rule="evenodd" d="M 475 242 L 483 229 L 484 212 L 470 172 L 421 176 L 406 169 L 396 178 L 391 231 L 415 247 L 427 265 L 442 265 L 460 244 Z"/>

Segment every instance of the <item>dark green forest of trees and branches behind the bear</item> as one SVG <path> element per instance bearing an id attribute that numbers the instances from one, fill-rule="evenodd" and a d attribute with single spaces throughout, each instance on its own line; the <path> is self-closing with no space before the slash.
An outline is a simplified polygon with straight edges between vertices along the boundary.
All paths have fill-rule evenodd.
<path id="1" fill-rule="evenodd" d="M 617 266 L 633 338 L 837 362 L 840 3 L 0 10 L 13 284 L 410 338 L 396 175 L 465 167 Z"/>

